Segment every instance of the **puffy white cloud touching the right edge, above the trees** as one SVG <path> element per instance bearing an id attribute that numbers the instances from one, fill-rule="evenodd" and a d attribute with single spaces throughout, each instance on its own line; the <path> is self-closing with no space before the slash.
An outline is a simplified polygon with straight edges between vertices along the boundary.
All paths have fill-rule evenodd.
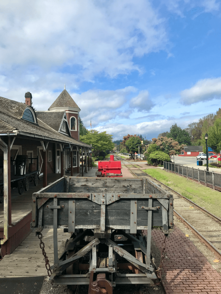
<path id="1" fill-rule="evenodd" d="M 199 80 L 194 86 L 180 92 L 180 103 L 191 105 L 221 97 L 221 77 Z"/>

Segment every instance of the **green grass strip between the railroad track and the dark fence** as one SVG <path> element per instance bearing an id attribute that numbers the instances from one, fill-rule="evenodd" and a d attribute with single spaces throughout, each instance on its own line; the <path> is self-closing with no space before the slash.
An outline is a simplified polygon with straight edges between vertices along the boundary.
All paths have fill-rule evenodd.
<path id="1" fill-rule="evenodd" d="M 150 168 L 145 172 L 216 216 L 221 216 L 221 192 L 161 169 Z"/>

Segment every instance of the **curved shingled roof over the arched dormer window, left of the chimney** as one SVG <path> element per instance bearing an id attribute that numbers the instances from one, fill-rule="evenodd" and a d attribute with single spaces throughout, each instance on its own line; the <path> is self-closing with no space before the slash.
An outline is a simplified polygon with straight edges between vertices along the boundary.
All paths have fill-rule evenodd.
<path id="1" fill-rule="evenodd" d="M 4 97 L 0 97 L 0 106 L 1 109 L 4 109 L 4 112 L 16 118 L 22 118 L 25 108 L 28 107 L 28 105 L 24 103 L 10 100 Z"/>

